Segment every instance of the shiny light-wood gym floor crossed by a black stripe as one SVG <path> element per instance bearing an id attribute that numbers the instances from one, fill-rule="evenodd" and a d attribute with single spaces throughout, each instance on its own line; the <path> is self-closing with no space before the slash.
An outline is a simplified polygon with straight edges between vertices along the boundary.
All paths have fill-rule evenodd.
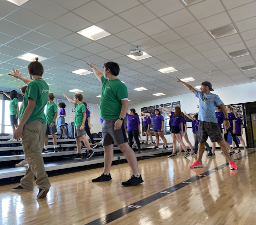
<path id="1" fill-rule="evenodd" d="M 112 166 L 109 182 L 91 182 L 102 168 L 50 177 L 44 199 L 36 200 L 36 186 L 1 186 L 0 225 L 256 225 L 254 149 L 234 155 L 237 171 L 219 152 L 204 153 L 197 169 L 192 156 L 140 160 L 144 182 L 135 187 L 121 186 L 131 176 L 127 163 Z"/>

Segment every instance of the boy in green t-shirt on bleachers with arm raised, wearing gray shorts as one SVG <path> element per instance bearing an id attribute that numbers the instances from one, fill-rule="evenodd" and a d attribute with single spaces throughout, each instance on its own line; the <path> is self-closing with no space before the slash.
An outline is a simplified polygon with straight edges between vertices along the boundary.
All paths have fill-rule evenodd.
<path id="1" fill-rule="evenodd" d="M 76 141 L 77 154 L 72 159 L 82 159 L 81 156 L 81 139 L 88 149 L 88 156 L 86 159 L 89 159 L 93 156 L 94 152 L 90 148 L 90 144 L 85 136 L 84 131 L 84 122 L 86 120 L 86 108 L 82 103 L 82 95 L 75 94 L 73 100 L 68 98 L 65 94 L 63 96 L 75 107 L 74 115 L 74 137 Z"/>

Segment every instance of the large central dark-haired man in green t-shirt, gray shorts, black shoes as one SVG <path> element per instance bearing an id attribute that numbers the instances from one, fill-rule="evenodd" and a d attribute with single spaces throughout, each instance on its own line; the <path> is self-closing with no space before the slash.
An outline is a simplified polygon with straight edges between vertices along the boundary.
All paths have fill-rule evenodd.
<path id="1" fill-rule="evenodd" d="M 102 145 L 104 148 L 103 173 L 92 182 L 110 181 L 110 167 L 113 161 L 113 144 L 117 145 L 132 171 L 131 178 L 122 182 L 123 186 L 135 186 L 143 182 L 138 171 L 137 158 L 134 151 L 129 147 L 125 134 L 126 118 L 128 110 L 128 92 L 126 86 L 117 79 L 119 66 L 115 62 L 104 63 L 104 75 L 89 61 L 87 63 L 97 79 L 102 84 L 99 113 L 104 120 L 102 123 Z M 125 126 L 124 126 L 125 123 Z"/>

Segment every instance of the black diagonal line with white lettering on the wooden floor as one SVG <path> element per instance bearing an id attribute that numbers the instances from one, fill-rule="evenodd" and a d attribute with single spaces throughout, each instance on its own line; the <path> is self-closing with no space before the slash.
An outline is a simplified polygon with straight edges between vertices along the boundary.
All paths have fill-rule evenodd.
<path id="1" fill-rule="evenodd" d="M 248 153 L 248 154 L 246 154 L 244 156 L 240 156 L 240 157 L 238 157 L 236 159 L 233 159 L 233 161 L 236 162 L 236 161 L 241 160 L 241 159 L 243 159 L 243 158 L 245 158 L 245 157 L 247 157 L 247 156 L 249 156 L 249 155 L 251 155 L 253 153 L 255 153 L 255 151 L 252 151 L 252 152 L 250 152 L 250 153 Z M 181 182 L 179 184 L 176 184 L 176 185 L 174 185 L 174 186 L 172 186 L 170 188 L 167 188 L 167 189 L 165 189 L 165 190 L 163 190 L 161 192 L 158 192 L 158 193 L 156 193 L 154 195 L 151 195 L 151 196 L 149 196 L 149 197 L 147 197 L 145 199 L 141 199 L 141 200 L 139 200 L 139 201 L 137 201 L 135 203 L 132 203 L 129 206 L 123 207 L 122 209 L 119 209 L 119 210 L 114 211 L 114 212 L 112 212 L 110 214 L 107 214 L 104 217 L 98 218 L 98 219 L 96 219 L 96 220 L 94 220 L 94 221 L 92 221 L 92 222 L 90 222 L 90 223 L 88 223 L 86 225 L 106 225 L 106 224 L 108 224 L 108 223 L 110 223 L 112 221 L 115 221 L 118 218 L 121 218 L 121 217 L 123 217 L 123 216 L 125 216 L 125 215 L 127 215 L 127 214 L 129 214 L 129 213 L 131 213 L 131 212 L 133 212 L 133 211 L 143 207 L 143 206 L 146 206 L 149 203 L 152 203 L 152 202 L 154 202 L 154 201 L 156 201 L 156 200 L 158 200 L 158 199 L 160 199 L 162 197 L 165 197 L 166 195 L 168 195 L 168 194 L 170 194 L 172 192 L 175 192 L 176 190 L 179 190 L 179 189 L 181 189 L 181 188 L 183 188 L 183 187 L 185 187 L 185 186 L 187 186 L 187 185 L 189 185 L 189 184 L 191 184 L 191 183 L 193 183 L 193 182 L 195 182 L 195 181 L 197 181 L 197 180 L 199 180 L 201 178 L 204 178 L 204 177 L 206 177 L 206 176 L 208 176 L 210 174 L 213 174 L 216 171 L 221 170 L 224 167 L 227 167 L 228 165 L 229 165 L 228 163 L 225 163 L 225 164 L 222 164 L 222 165 L 220 165 L 220 166 L 218 166 L 216 168 L 210 169 L 210 170 L 208 170 L 208 171 L 206 171 L 206 172 L 204 172 L 204 173 L 202 173 L 200 175 L 192 177 L 192 178 L 190 178 L 190 179 L 188 179 L 186 181 L 183 181 L 183 182 Z"/>

